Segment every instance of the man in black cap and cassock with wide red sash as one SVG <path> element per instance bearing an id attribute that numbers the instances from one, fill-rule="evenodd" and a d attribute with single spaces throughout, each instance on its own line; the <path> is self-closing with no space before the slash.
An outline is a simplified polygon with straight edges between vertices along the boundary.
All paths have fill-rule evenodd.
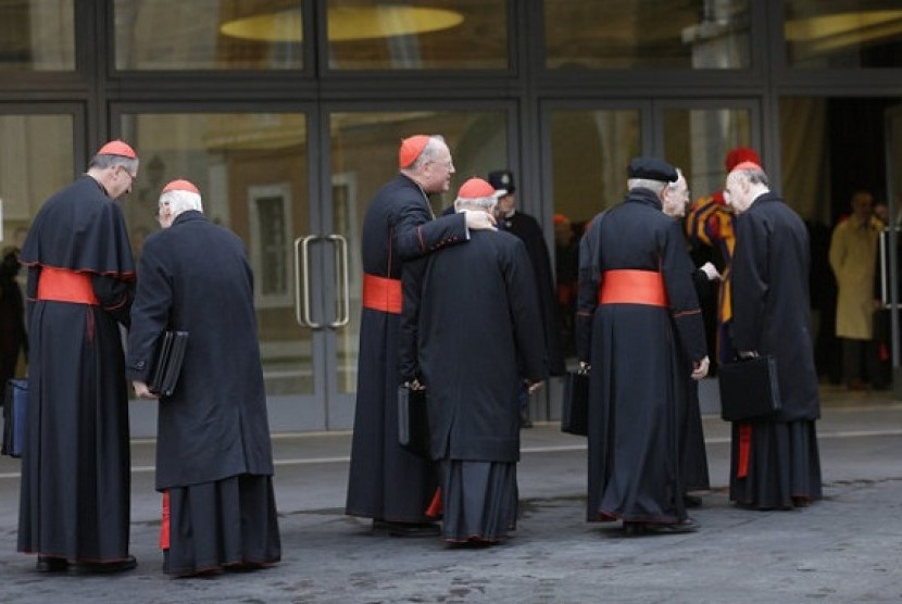
<path id="1" fill-rule="evenodd" d="M 707 374 L 692 262 L 662 212 L 673 166 L 629 163 L 623 203 L 596 217 L 580 244 L 577 353 L 590 369 L 589 521 L 628 533 L 694 530 L 681 461 L 682 382 Z"/>

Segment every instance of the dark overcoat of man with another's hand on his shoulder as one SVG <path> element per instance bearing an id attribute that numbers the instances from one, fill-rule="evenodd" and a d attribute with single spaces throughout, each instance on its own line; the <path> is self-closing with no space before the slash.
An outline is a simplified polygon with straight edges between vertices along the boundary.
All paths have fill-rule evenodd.
<path id="1" fill-rule="evenodd" d="M 533 267 L 508 232 L 471 237 L 405 267 L 401 377 L 426 386 L 434 460 L 515 462 L 519 382 L 548 375 Z"/>

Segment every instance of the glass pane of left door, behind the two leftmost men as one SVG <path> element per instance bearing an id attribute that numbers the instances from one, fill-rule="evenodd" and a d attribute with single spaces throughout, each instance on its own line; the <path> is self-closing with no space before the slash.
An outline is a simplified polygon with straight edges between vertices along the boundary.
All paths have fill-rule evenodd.
<path id="1" fill-rule="evenodd" d="M 295 320 L 291 241 L 310 232 L 303 114 L 190 113 L 123 116 L 123 138 L 141 158 L 123 204 L 140 255 L 155 230 L 163 185 L 187 178 L 204 214 L 245 241 L 254 274 L 263 376 L 270 398 L 313 393 L 310 329 Z"/>

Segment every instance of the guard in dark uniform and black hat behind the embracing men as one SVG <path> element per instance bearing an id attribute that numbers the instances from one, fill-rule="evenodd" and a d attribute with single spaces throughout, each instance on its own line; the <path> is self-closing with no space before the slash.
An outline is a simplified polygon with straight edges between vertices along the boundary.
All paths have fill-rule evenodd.
<path id="1" fill-rule="evenodd" d="M 519 237 L 529 254 L 529 263 L 536 276 L 537 295 L 539 299 L 540 318 L 544 332 L 544 349 L 548 355 L 548 369 L 552 376 L 562 376 L 566 373 L 564 354 L 561 348 L 561 329 L 558 324 L 558 299 L 554 274 L 551 269 L 551 254 L 538 221 L 529 214 L 516 209 L 516 185 L 514 175 L 509 169 L 498 169 L 489 173 L 489 184 L 496 190 L 506 191 L 498 200 L 494 212 L 498 226 Z M 521 393 L 521 423 L 524 428 L 533 426 L 528 415 L 529 398 L 526 391 Z"/>

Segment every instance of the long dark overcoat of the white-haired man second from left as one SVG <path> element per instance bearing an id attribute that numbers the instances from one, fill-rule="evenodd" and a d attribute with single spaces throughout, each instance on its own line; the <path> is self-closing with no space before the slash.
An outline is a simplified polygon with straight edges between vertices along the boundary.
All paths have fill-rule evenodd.
<path id="1" fill-rule="evenodd" d="M 196 211 L 145 241 L 127 375 L 147 381 L 165 329 L 188 331 L 175 391 L 160 400 L 156 488 L 273 474 L 253 276 L 241 239 Z"/>

